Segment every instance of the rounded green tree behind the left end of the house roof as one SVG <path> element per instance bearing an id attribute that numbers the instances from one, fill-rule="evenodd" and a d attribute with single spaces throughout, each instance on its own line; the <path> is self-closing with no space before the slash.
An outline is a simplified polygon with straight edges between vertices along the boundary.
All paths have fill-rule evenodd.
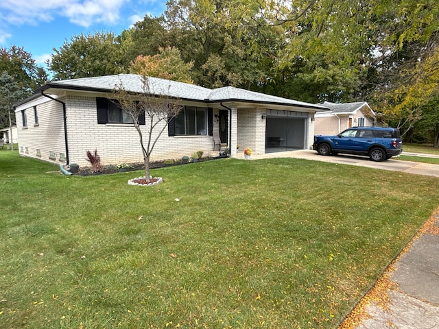
<path id="1" fill-rule="evenodd" d="M 126 71 L 122 66 L 121 47 L 112 32 L 79 34 L 54 49 L 47 66 L 54 80 L 112 75 Z"/>

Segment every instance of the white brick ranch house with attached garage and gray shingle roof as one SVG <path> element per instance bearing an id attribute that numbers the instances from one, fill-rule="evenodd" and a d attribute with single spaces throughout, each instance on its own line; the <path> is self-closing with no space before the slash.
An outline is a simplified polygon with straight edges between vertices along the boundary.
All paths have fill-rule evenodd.
<path id="1" fill-rule="evenodd" d="M 149 81 L 151 93 L 167 95 L 183 106 L 158 139 L 152 161 L 191 156 L 198 150 L 217 156 L 213 132 L 219 132 L 231 156 L 237 152 L 236 145 L 264 154 L 268 138 L 283 138 L 283 147 L 307 149 L 313 143 L 314 114 L 327 110 L 230 86 L 212 90 L 154 77 Z M 142 162 L 137 131 L 108 99 L 120 83 L 128 91 L 142 92 L 139 75 L 86 77 L 49 82 L 36 89 L 34 96 L 16 103 L 20 154 L 84 166 L 88 165 L 86 151 L 97 149 L 102 164 Z M 142 129 L 147 136 L 147 125 Z"/>

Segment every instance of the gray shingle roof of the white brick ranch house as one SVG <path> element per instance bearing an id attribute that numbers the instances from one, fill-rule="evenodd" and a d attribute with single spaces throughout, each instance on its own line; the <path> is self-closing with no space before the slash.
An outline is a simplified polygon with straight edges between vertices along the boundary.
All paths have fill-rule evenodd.
<path id="1" fill-rule="evenodd" d="M 257 93 L 250 90 L 244 90 L 235 87 L 223 87 L 209 89 L 195 84 L 185 84 L 171 80 L 159 79 L 157 77 L 148 77 L 150 93 L 154 95 L 167 95 L 178 99 L 189 99 L 195 101 L 244 101 L 252 103 L 271 103 L 285 106 L 308 107 L 316 110 L 327 110 L 320 104 L 305 103 L 294 101 L 263 93 Z M 119 74 L 106 75 L 103 77 L 83 77 L 80 79 L 62 80 L 49 82 L 36 90 L 46 90 L 48 88 L 73 88 L 76 90 L 96 90 L 101 92 L 111 92 L 116 86 L 123 84 L 123 87 L 133 93 L 143 93 L 143 82 L 141 75 L 136 74 Z"/>

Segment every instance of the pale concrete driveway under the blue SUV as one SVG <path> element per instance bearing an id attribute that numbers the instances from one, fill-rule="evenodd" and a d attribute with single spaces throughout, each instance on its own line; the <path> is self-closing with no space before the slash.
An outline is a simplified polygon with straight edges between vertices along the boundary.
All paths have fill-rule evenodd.
<path id="1" fill-rule="evenodd" d="M 405 152 L 403 154 L 423 156 L 420 154 L 409 154 Z M 431 158 L 436 158 L 436 157 L 438 156 L 431 155 Z M 244 154 L 239 153 L 237 154 L 236 158 L 244 158 Z M 269 159 L 269 158 L 300 158 L 300 159 L 315 160 L 322 162 L 351 164 L 353 166 L 369 167 L 369 168 L 383 169 L 390 171 L 401 171 L 402 173 L 414 173 L 416 175 L 439 177 L 439 164 L 402 161 L 402 160 L 398 160 L 397 157 L 391 158 L 383 162 L 375 162 L 369 160 L 369 158 L 364 156 L 351 156 L 347 154 L 339 154 L 337 156 L 320 156 L 320 154 L 318 154 L 317 151 L 313 151 L 311 149 L 299 149 L 296 151 L 283 151 L 283 152 L 274 152 L 274 153 L 251 156 L 252 160 Z"/>

